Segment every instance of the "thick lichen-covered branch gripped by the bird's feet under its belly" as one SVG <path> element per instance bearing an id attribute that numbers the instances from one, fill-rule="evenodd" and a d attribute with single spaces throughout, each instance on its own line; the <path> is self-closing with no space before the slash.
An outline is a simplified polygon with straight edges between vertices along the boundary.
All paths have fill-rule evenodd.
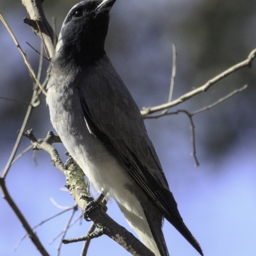
<path id="1" fill-rule="evenodd" d="M 87 188 L 84 182 L 83 170 L 81 170 L 76 163 L 68 164 L 68 166 L 66 164 L 67 168 L 65 168 L 65 165 L 58 155 L 58 151 L 52 147 L 51 144 L 54 142 L 60 142 L 60 138 L 58 136 L 54 136 L 53 132 L 48 132 L 45 140 L 39 144 L 36 141 L 32 130 L 23 133 L 23 135 L 29 138 L 34 149 L 45 150 L 51 155 L 52 164 L 54 164 L 54 166 L 65 174 L 67 188 L 70 191 L 70 194 L 76 200 L 77 205 L 82 209 L 82 211 L 84 211 L 86 205 L 92 201 L 92 197 L 86 190 Z M 90 220 L 95 223 L 95 225 L 102 225 L 104 234 L 116 241 L 116 243 L 120 244 L 132 255 L 153 255 L 153 253 L 144 244 L 136 239 L 136 237 L 134 237 L 124 227 L 120 226 L 112 218 L 110 218 L 108 214 L 103 211 L 103 209 L 97 207 L 93 209 L 92 212 L 89 212 L 88 216 Z"/>

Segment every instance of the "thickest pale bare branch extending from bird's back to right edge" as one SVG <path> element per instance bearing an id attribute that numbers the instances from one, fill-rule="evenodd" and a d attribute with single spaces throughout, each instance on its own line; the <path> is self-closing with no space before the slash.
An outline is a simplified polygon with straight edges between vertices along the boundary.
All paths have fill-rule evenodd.
<path id="1" fill-rule="evenodd" d="M 185 100 L 190 99 L 191 97 L 197 95 L 198 93 L 206 92 L 209 88 L 211 88 L 211 86 L 213 84 L 217 83 L 218 81 L 220 81 L 224 77 L 229 76 L 230 74 L 236 72 L 240 68 L 250 67 L 252 65 L 252 61 L 255 59 L 255 56 L 256 56 L 255 54 L 256 54 L 256 49 L 254 49 L 252 52 L 250 52 L 250 54 L 249 54 L 249 56 L 246 60 L 241 61 L 240 63 L 237 63 L 236 65 L 228 68 L 227 70 L 225 70 L 224 72 L 222 72 L 218 76 L 213 77 L 212 79 L 207 81 L 207 83 L 205 83 L 202 86 L 196 88 L 195 90 L 192 90 L 192 91 L 180 96 L 176 100 L 172 100 L 171 102 L 167 102 L 167 103 L 161 104 L 159 106 L 154 106 L 152 108 L 143 108 L 141 110 L 141 115 L 147 116 L 147 115 L 150 115 L 152 113 L 156 113 L 157 111 L 161 111 L 161 110 L 166 109 L 166 108 L 171 108 L 173 106 L 176 106 L 176 105 L 184 102 Z"/>

